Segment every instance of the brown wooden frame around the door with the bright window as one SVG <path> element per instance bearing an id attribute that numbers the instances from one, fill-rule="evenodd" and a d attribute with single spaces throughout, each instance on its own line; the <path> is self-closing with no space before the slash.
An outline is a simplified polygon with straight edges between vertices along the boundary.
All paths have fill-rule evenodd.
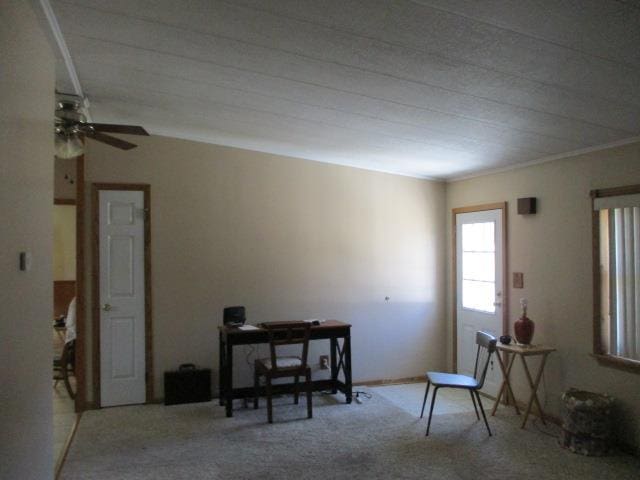
<path id="1" fill-rule="evenodd" d="M 452 255 L 452 311 L 453 319 L 453 371 L 458 371 L 458 246 L 457 219 L 459 213 L 484 212 L 486 210 L 501 210 L 502 214 L 502 335 L 509 332 L 509 289 L 507 288 L 509 265 L 507 263 L 507 202 L 486 203 L 470 207 L 459 207 L 451 210 L 451 255 Z"/>

